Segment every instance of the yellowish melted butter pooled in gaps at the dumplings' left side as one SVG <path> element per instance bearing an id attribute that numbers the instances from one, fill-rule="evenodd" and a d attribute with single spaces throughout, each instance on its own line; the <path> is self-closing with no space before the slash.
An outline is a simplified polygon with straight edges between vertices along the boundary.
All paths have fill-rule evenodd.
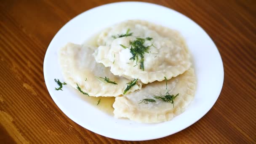
<path id="1" fill-rule="evenodd" d="M 85 40 L 83 45 L 98 47 L 99 46 L 97 44 L 98 36 L 99 36 L 99 33 L 93 35 L 88 40 Z M 85 96 L 81 93 L 79 93 L 79 95 L 82 97 L 83 100 L 87 101 L 92 106 L 100 109 L 102 112 L 105 112 L 108 115 L 112 115 L 112 116 L 114 115 L 114 113 L 113 113 L 114 108 L 112 107 L 112 105 L 115 102 L 115 97 L 103 97 L 103 96 L 100 96 L 100 97 L 90 96 L 89 97 L 89 96 Z M 98 104 L 99 99 L 100 99 L 100 102 Z"/>

